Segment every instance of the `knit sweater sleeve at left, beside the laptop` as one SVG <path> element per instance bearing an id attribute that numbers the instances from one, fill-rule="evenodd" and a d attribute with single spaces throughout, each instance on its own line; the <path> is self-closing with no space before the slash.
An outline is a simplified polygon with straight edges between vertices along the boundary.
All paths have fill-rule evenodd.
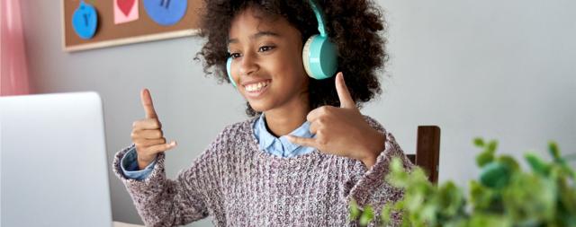
<path id="1" fill-rule="evenodd" d="M 178 173 L 176 179 L 166 179 L 165 154 L 158 153 L 154 169 L 146 179 L 129 179 L 122 174 L 121 159 L 134 147 L 116 153 L 112 170 L 128 189 L 136 209 L 146 226 L 175 226 L 192 223 L 209 215 L 207 191 L 211 187 L 205 177 L 203 162 L 208 151 L 202 153 L 192 166 Z M 203 187 L 199 187 L 204 185 Z"/>

